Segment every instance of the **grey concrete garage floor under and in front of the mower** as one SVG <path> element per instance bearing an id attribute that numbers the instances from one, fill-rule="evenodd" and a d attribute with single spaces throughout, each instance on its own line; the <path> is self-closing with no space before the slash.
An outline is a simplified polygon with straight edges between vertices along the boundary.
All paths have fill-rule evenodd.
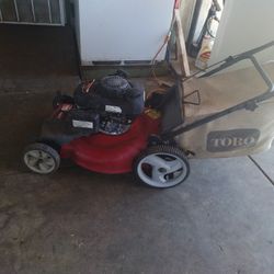
<path id="1" fill-rule="evenodd" d="M 250 158 L 193 160 L 159 191 L 65 163 L 32 174 L 21 151 L 53 94 L 0 95 L 0 273 L 264 273 L 274 270 L 274 186 Z M 274 181 L 274 150 L 254 160 Z"/>

